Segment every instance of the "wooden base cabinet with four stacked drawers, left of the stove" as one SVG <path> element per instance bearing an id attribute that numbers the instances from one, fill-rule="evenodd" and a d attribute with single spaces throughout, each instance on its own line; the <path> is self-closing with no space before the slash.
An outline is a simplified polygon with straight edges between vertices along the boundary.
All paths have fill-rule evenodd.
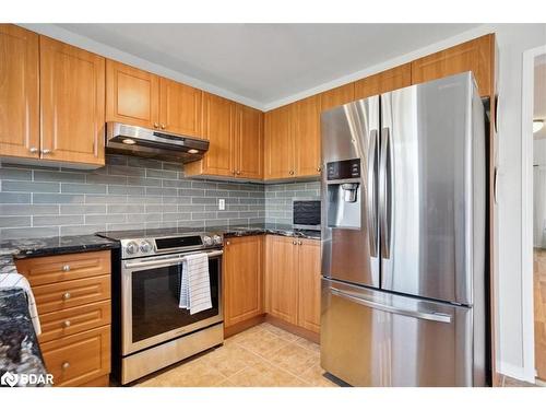
<path id="1" fill-rule="evenodd" d="M 32 286 L 38 336 L 54 386 L 107 386 L 110 373 L 110 251 L 15 261 Z"/>

